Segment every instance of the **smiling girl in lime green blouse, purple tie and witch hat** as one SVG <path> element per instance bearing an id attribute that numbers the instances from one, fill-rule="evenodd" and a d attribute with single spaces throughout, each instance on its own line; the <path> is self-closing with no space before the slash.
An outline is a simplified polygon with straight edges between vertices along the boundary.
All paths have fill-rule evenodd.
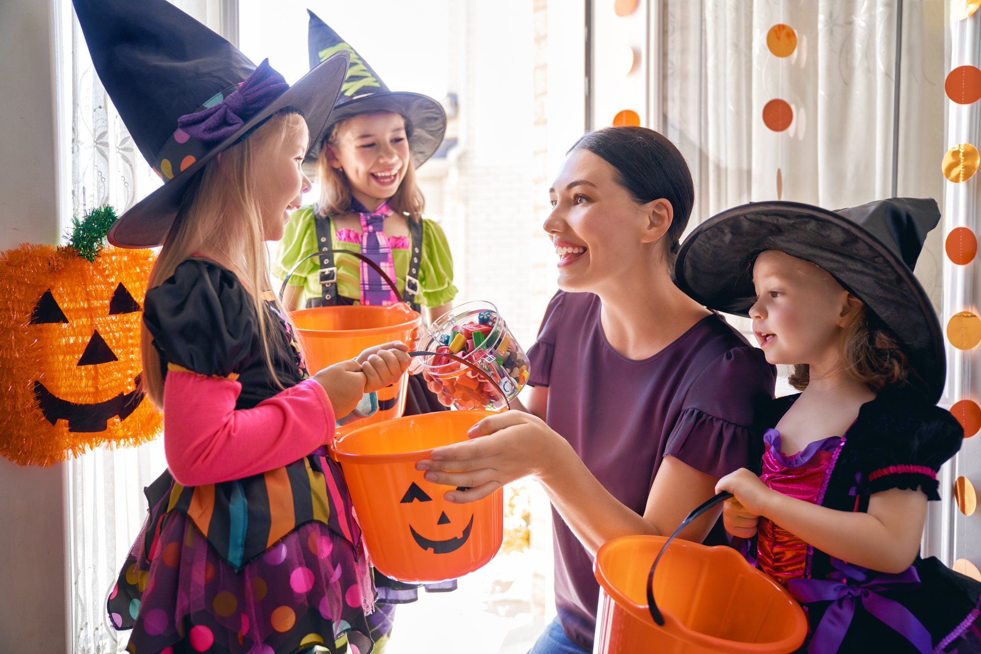
<path id="1" fill-rule="evenodd" d="M 351 67 L 325 137 L 307 165 L 321 184 L 319 203 L 292 215 L 274 275 L 289 277 L 284 305 L 293 310 L 336 304 L 391 305 L 400 300 L 429 318 L 449 310 L 456 295 L 453 258 L 439 225 L 422 217 L 424 199 L 415 169 L 442 142 L 446 115 L 425 95 L 391 92 L 385 83 L 313 12 L 310 66 L 346 51 Z M 324 248 L 360 252 L 395 279 L 396 296 L 367 264 Z M 298 264 L 298 266 L 297 266 Z M 443 409 L 421 377 L 410 377 L 406 415 Z"/>

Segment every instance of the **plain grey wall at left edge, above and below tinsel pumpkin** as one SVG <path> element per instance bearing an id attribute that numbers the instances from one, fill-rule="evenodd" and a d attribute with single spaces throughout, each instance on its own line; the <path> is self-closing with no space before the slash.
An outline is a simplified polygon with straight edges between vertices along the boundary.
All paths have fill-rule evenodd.
<path id="1" fill-rule="evenodd" d="M 0 0 L 0 250 L 55 243 L 52 7 Z M 0 458 L 0 652 L 64 652 L 64 466 Z"/>

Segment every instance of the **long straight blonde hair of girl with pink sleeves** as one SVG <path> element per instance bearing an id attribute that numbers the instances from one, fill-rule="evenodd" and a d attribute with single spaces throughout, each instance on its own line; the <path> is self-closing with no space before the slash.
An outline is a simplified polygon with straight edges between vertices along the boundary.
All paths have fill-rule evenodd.
<path id="1" fill-rule="evenodd" d="M 156 288 L 174 275 L 178 266 L 204 246 L 221 248 L 234 259 L 241 252 L 239 280 L 246 287 L 258 316 L 262 354 L 272 378 L 282 387 L 273 367 L 271 347 L 282 349 L 271 337 L 269 312 L 263 295 L 270 285 L 268 251 L 263 226 L 263 207 L 254 188 L 258 181 L 253 165 L 271 148 L 283 146 L 305 126 L 295 113 L 274 116 L 244 141 L 232 145 L 211 160 L 184 192 L 174 226 L 150 271 L 146 288 Z M 279 304 L 279 300 L 275 300 Z M 286 315 L 285 311 L 281 314 Z M 153 336 L 141 327 L 140 354 L 143 360 L 142 390 L 158 409 L 164 406 L 164 377 Z"/>

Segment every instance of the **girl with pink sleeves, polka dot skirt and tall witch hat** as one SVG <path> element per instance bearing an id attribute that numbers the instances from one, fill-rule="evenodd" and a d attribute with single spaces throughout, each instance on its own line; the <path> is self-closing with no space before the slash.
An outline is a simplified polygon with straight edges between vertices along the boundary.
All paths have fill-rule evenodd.
<path id="1" fill-rule="evenodd" d="M 292 87 L 166 0 L 76 0 L 96 70 L 162 188 L 109 239 L 162 244 L 143 313 L 144 389 L 168 472 L 108 611 L 128 650 L 367 653 L 374 588 L 335 420 L 408 366 L 401 343 L 310 377 L 268 290 L 265 240 L 309 180 L 348 63 Z M 133 39 L 139 34 L 139 39 Z"/>

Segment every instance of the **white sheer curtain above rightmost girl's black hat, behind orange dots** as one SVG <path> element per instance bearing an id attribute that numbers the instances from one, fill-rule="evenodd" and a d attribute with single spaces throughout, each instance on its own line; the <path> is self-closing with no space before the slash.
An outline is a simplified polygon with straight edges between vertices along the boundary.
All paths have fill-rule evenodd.
<path id="1" fill-rule="evenodd" d="M 661 126 L 696 182 L 692 226 L 747 202 L 828 209 L 892 195 L 895 0 L 662 0 Z M 943 197 L 945 3 L 904 3 L 898 194 Z M 776 57 L 773 25 L 797 32 Z M 764 105 L 790 104 L 783 131 Z M 931 234 L 916 274 L 940 308 L 942 242 Z"/>

